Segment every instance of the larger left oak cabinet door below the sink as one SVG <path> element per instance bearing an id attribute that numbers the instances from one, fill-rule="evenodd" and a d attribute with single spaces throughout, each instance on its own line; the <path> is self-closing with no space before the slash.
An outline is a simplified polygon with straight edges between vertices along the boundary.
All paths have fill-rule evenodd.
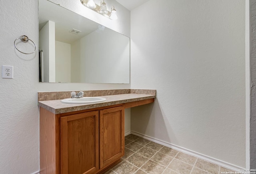
<path id="1" fill-rule="evenodd" d="M 62 174 L 93 174 L 99 169 L 98 113 L 60 118 Z"/>

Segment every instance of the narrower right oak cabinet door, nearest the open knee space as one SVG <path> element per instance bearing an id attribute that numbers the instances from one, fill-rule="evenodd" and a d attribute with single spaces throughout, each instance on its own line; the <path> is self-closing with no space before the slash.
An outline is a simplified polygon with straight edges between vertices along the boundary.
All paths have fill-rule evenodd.
<path id="1" fill-rule="evenodd" d="M 124 107 L 100 110 L 100 168 L 124 155 Z"/>

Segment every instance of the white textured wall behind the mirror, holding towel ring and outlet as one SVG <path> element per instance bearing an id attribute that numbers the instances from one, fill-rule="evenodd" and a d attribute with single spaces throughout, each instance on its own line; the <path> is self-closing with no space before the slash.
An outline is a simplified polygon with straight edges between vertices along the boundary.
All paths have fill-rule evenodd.
<path id="1" fill-rule="evenodd" d="M 55 0 L 56 1 L 56 0 Z M 102 25 L 130 36 L 130 11 L 111 0 L 118 13 L 112 22 L 77 1 L 59 0 L 69 10 L 97 20 Z M 109 5 L 110 5 L 109 4 Z M 38 1 L 0 2 L 0 67 L 14 67 L 14 78 L 0 78 L 0 173 L 31 174 L 39 171 L 39 112 L 37 92 L 130 88 L 130 84 L 39 83 L 38 53 L 21 54 L 13 42 L 21 35 L 38 45 Z M 27 46 L 27 47 L 26 47 Z M 26 45 L 23 51 L 30 51 Z"/>

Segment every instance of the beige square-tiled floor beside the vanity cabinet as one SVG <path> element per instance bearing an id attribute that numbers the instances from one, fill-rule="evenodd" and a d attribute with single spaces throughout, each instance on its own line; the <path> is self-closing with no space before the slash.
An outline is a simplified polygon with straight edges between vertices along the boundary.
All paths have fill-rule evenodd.
<path id="1" fill-rule="evenodd" d="M 121 162 L 106 174 L 221 174 L 234 172 L 135 135 L 125 137 Z"/>

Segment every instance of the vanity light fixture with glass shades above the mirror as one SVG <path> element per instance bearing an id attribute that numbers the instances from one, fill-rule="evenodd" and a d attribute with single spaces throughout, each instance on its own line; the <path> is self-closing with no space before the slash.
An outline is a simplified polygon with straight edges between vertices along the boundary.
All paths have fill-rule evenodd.
<path id="1" fill-rule="evenodd" d="M 117 20 L 116 9 L 114 8 L 114 6 L 112 6 L 111 11 L 108 11 L 104 0 L 101 0 L 100 5 L 95 4 L 94 0 L 80 0 L 80 2 L 84 6 L 94 10 L 95 12 L 97 12 L 107 18 L 110 18 L 111 20 Z"/>

